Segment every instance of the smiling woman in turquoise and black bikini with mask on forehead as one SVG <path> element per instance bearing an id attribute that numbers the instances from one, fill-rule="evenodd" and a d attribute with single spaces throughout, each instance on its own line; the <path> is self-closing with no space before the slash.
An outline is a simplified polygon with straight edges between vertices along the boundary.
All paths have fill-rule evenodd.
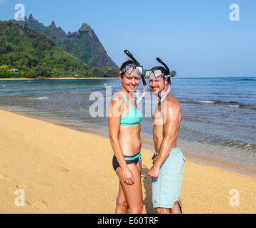
<path id="1" fill-rule="evenodd" d="M 142 113 L 137 110 L 132 98 L 142 72 L 138 63 L 127 61 L 122 64 L 119 75 L 122 88 L 109 106 L 109 137 L 114 151 L 112 165 L 119 177 L 117 214 L 126 214 L 128 208 L 129 214 L 139 214 L 143 209 L 140 176 Z"/>

